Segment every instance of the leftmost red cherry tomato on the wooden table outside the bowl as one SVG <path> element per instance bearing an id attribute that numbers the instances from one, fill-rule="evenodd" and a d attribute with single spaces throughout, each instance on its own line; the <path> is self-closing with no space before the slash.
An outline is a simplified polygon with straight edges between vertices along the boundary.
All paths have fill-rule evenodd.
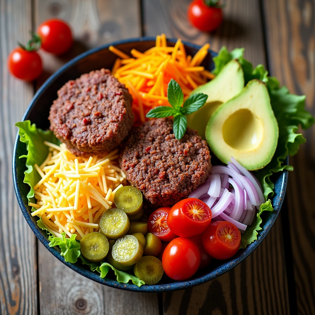
<path id="1" fill-rule="evenodd" d="M 8 68 L 14 77 L 25 81 L 37 79 L 43 72 L 42 59 L 36 51 L 17 47 L 8 57 Z"/>

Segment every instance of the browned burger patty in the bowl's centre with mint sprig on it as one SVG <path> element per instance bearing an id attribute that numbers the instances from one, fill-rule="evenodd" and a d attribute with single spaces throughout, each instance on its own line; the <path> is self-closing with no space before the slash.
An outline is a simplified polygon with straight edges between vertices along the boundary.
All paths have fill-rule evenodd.
<path id="1" fill-rule="evenodd" d="M 197 131 L 187 128 L 181 140 L 173 121 L 159 118 L 132 129 L 121 155 L 127 180 L 158 206 L 172 206 L 203 184 L 210 154 Z"/>

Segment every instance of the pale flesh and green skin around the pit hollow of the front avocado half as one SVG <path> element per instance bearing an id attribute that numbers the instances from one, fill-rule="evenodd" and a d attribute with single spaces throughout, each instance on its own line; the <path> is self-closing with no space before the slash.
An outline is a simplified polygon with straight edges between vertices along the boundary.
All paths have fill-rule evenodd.
<path id="1" fill-rule="evenodd" d="M 249 110 L 262 125 L 261 141 L 253 150 L 235 149 L 224 140 L 224 122 L 239 110 Z M 246 121 L 240 123 L 246 128 Z M 276 151 L 279 128 L 265 83 L 251 80 L 240 94 L 222 104 L 209 119 L 205 135 L 210 149 L 223 163 L 229 162 L 233 156 L 248 170 L 266 166 Z"/>

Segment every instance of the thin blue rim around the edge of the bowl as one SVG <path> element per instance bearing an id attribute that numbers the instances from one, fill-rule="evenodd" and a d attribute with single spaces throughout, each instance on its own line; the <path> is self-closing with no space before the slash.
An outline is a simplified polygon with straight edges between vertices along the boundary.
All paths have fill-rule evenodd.
<path id="1" fill-rule="evenodd" d="M 26 111 L 25 111 L 21 121 L 25 120 L 29 111 L 33 107 L 35 100 L 46 91 L 46 89 L 50 85 L 50 82 L 53 81 L 54 78 L 58 77 L 60 73 L 64 72 L 67 68 L 69 68 L 73 64 L 75 64 L 77 61 L 79 61 L 79 60 L 81 60 L 81 59 L 83 59 L 83 58 L 85 58 L 91 54 L 94 54 L 100 50 L 107 49 L 110 45 L 115 46 L 115 45 L 120 45 L 120 44 L 125 44 L 125 43 L 133 43 L 133 42 L 141 42 L 141 41 L 154 41 L 154 40 L 155 40 L 155 37 L 137 37 L 137 38 L 123 39 L 123 40 L 119 40 L 119 41 L 115 41 L 112 43 L 102 45 L 102 46 L 94 48 L 94 49 L 90 49 L 90 50 L 78 55 L 77 57 L 73 58 L 72 60 L 68 61 L 64 66 L 62 66 L 60 69 L 58 69 L 56 72 L 54 72 L 43 83 L 43 85 L 37 90 L 37 92 L 35 93 L 35 95 L 31 99 L 30 104 L 27 106 Z M 175 43 L 176 39 L 174 39 L 174 38 L 169 39 L 168 38 L 167 41 L 170 43 Z M 199 49 L 201 47 L 199 45 L 185 42 L 185 41 L 183 41 L 183 44 L 185 46 L 195 48 L 195 49 Z M 209 52 L 212 54 L 216 54 L 215 52 L 213 52 L 211 50 L 209 50 Z M 280 211 L 282 203 L 283 203 L 284 195 L 286 192 L 286 186 L 287 186 L 287 180 L 288 180 L 288 171 L 283 172 L 281 182 L 279 183 L 279 185 L 281 186 L 279 196 L 278 195 L 274 196 L 274 198 L 278 197 L 278 199 L 280 200 L 280 203 L 278 203 L 277 206 L 274 207 L 275 209 L 271 213 L 271 217 L 268 219 L 268 225 L 265 226 L 262 231 L 258 232 L 256 241 L 249 244 L 246 247 L 246 249 L 243 250 L 243 252 L 237 258 L 234 258 L 230 261 L 226 261 L 223 265 L 216 268 L 219 270 L 216 270 L 216 269 L 212 270 L 209 273 L 207 273 L 206 275 L 201 276 L 201 277 L 196 278 L 196 279 L 192 279 L 192 280 L 178 281 L 178 282 L 174 282 L 174 283 L 170 283 L 170 284 L 142 285 L 141 287 L 138 287 L 138 286 L 136 286 L 134 284 L 130 284 L 130 283 L 124 284 L 124 283 L 119 283 L 116 280 L 111 280 L 111 279 L 107 279 L 107 278 L 100 278 L 98 274 L 96 274 L 92 271 L 89 271 L 80 265 L 71 264 L 71 263 L 66 262 L 64 260 L 64 258 L 60 255 L 60 251 L 58 251 L 54 247 L 49 247 L 48 239 L 43 236 L 43 234 L 40 232 L 40 228 L 31 219 L 30 212 L 26 208 L 26 206 L 23 202 L 22 196 L 20 194 L 20 189 L 18 187 L 17 165 L 15 163 L 15 155 L 16 155 L 16 150 L 17 150 L 19 139 L 20 139 L 20 136 L 17 133 L 17 135 L 15 137 L 15 142 L 14 142 L 13 163 L 12 163 L 12 165 L 13 165 L 14 190 L 15 190 L 16 198 L 18 200 L 21 211 L 22 211 L 28 225 L 31 227 L 31 230 L 36 235 L 36 237 L 39 239 L 39 241 L 63 264 L 65 264 L 66 266 L 68 266 L 69 268 L 71 268 L 72 270 L 74 270 L 75 272 L 79 273 L 80 275 L 82 275 L 86 278 L 94 280 L 95 282 L 98 282 L 100 284 L 105 284 L 107 286 L 110 286 L 113 288 L 118 288 L 118 289 L 125 289 L 125 290 L 138 291 L 138 292 L 166 292 L 166 291 L 173 291 L 173 290 L 181 290 L 181 289 L 190 288 L 192 286 L 196 286 L 199 284 L 203 284 L 203 283 L 208 282 L 214 278 L 217 278 L 218 276 L 222 275 L 223 273 L 231 270 L 232 268 L 237 266 L 241 261 L 243 261 L 246 257 L 248 257 L 258 247 L 258 245 L 262 242 L 262 240 L 266 237 L 267 233 L 270 231 L 274 221 L 276 220 L 276 218 L 279 214 L 279 211 Z M 289 163 L 288 157 L 287 157 L 285 162 Z"/>

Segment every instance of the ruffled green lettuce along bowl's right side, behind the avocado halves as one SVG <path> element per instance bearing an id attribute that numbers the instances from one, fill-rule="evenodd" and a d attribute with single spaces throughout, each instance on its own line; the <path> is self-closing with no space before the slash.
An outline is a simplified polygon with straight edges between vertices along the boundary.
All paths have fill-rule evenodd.
<path id="1" fill-rule="evenodd" d="M 213 73 L 217 75 L 226 63 L 232 59 L 238 59 L 244 72 L 245 85 L 252 79 L 259 79 L 266 83 L 272 110 L 278 121 L 279 139 L 271 162 L 254 173 L 261 183 L 265 199 L 267 200 L 268 196 L 272 196 L 274 193 L 274 183 L 271 180 L 272 174 L 283 170 L 292 171 L 293 167 L 284 165 L 284 161 L 288 155 L 295 155 L 300 145 L 306 141 L 301 133 L 297 133 L 299 126 L 302 129 L 310 128 L 314 123 L 314 117 L 305 110 L 305 95 L 290 94 L 285 86 L 280 87 L 280 83 L 275 77 L 268 76 L 268 71 L 263 65 L 258 65 L 254 68 L 243 57 L 243 53 L 243 48 L 236 48 L 229 52 L 226 47 L 222 47 L 219 54 L 213 58 L 215 64 Z M 263 211 L 273 211 L 270 200 L 261 205 L 257 218 L 242 235 L 242 248 L 245 248 L 246 245 L 257 239 L 257 231 L 261 230 L 260 215 Z"/>

